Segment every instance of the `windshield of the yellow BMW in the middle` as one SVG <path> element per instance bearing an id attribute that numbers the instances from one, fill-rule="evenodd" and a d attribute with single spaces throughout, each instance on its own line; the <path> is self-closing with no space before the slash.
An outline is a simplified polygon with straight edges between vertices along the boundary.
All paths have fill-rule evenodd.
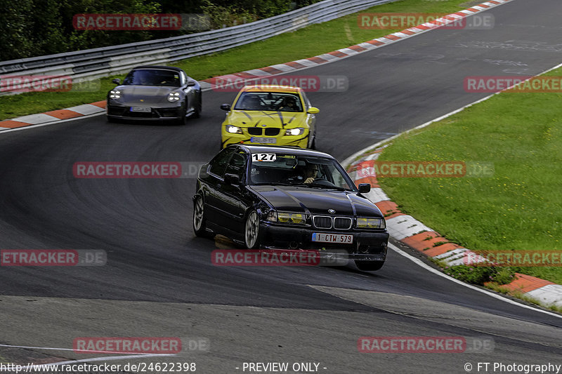
<path id="1" fill-rule="evenodd" d="M 234 109 L 302 112 L 303 106 L 296 93 L 245 92 L 236 101 Z"/>

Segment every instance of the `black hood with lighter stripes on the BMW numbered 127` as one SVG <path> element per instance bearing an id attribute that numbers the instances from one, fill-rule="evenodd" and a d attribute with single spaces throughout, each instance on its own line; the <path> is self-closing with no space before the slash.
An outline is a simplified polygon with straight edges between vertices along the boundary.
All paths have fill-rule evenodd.
<path id="1" fill-rule="evenodd" d="M 357 192 L 298 186 L 250 186 L 277 211 L 383 218 L 379 208 Z M 328 213 L 334 209 L 336 213 Z"/>

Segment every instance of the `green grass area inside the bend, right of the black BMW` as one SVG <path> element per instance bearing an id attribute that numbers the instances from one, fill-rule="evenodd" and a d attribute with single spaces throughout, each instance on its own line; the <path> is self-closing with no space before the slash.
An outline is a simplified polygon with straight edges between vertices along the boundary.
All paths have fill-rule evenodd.
<path id="1" fill-rule="evenodd" d="M 562 69 L 547 75 L 560 76 Z M 488 178 L 379 178 L 403 211 L 473 250 L 562 250 L 562 94 L 501 93 L 419 131 L 380 160 L 491 162 Z M 518 272 L 562 284 L 562 267 Z"/>

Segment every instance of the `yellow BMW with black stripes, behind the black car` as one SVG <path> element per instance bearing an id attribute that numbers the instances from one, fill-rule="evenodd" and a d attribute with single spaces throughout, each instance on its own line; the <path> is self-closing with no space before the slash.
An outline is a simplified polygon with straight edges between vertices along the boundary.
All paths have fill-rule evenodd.
<path id="1" fill-rule="evenodd" d="M 315 114 L 302 88 L 245 86 L 226 110 L 221 147 L 231 144 L 292 145 L 315 149 Z"/>

